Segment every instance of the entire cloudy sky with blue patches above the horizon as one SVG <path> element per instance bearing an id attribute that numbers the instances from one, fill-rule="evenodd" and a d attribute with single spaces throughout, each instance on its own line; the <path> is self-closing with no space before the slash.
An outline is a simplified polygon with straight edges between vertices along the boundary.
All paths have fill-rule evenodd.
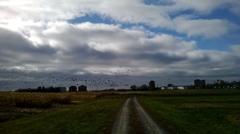
<path id="1" fill-rule="evenodd" d="M 239 0 L 0 0 L 0 89 L 240 80 L 239 7 Z"/>

